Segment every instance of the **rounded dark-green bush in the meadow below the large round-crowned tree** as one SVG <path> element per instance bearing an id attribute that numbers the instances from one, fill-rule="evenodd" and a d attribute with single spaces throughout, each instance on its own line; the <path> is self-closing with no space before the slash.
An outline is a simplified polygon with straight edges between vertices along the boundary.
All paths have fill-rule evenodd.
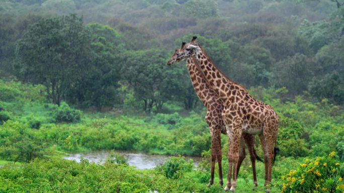
<path id="1" fill-rule="evenodd" d="M 61 102 L 60 106 L 53 112 L 56 122 L 78 122 L 81 119 L 81 111 L 69 107 L 65 102 Z"/>

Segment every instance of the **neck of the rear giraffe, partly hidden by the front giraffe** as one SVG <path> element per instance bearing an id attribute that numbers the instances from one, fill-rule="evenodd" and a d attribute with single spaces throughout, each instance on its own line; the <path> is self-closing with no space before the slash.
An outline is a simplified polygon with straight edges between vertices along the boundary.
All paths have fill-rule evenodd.
<path id="1" fill-rule="evenodd" d="M 214 97 L 216 94 L 204 79 L 202 72 L 197 67 L 194 60 L 196 60 L 194 57 L 187 60 L 187 68 L 189 71 L 190 79 L 198 98 L 205 106 L 207 106 L 208 100 Z"/>

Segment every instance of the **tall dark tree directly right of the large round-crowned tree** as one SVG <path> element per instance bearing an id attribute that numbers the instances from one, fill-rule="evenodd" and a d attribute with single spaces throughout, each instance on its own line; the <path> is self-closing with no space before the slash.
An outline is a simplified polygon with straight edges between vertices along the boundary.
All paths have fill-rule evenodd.
<path id="1" fill-rule="evenodd" d="M 120 103 L 116 89 L 122 67 L 120 54 L 124 52 L 123 36 L 110 26 L 98 23 L 90 23 L 86 29 L 91 34 L 90 69 L 69 90 L 68 100 L 101 110 Z"/>

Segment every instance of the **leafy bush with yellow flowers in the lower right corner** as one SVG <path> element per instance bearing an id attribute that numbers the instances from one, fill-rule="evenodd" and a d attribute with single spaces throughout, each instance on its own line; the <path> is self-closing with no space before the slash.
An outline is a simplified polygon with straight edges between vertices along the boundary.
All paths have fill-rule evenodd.
<path id="1" fill-rule="evenodd" d="M 282 193 L 344 192 L 344 163 L 337 162 L 335 157 L 335 152 L 331 152 L 315 161 L 305 159 L 298 169 L 282 177 Z"/>

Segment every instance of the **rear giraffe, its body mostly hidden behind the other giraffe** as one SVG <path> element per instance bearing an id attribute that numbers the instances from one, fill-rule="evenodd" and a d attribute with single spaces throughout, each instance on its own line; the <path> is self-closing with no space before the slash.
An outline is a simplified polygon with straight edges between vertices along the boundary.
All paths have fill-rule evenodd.
<path id="1" fill-rule="evenodd" d="M 185 42 L 182 43 L 180 49 L 176 49 L 175 53 L 171 56 L 171 59 L 167 62 L 166 65 L 170 66 L 175 62 L 181 61 L 181 54 L 185 49 Z M 211 136 L 211 169 L 210 169 L 210 179 L 208 186 L 214 183 L 214 168 L 215 161 L 217 159 L 219 166 L 219 183 L 223 185 L 222 179 L 222 153 L 221 153 L 221 133 L 227 134 L 225 125 L 222 120 L 222 111 L 224 108 L 223 100 L 220 99 L 217 94 L 210 88 L 210 85 L 206 82 L 203 77 L 201 70 L 196 65 L 196 59 L 194 57 L 187 59 L 187 68 L 190 75 L 191 82 L 196 91 L 197 96 L 202 101 L 204 106 L 207 109 L 207 114 L 205 120 L 210 129 Z M 247 145 L 251 163 L 252 163 L 252 172 L 253 172 L 253 184 L 257 186 L 256 172 L 255 172 L 255 159 L 263 161 L 258 157 L 254 150 L 254 136 L 251 134 L 243 133 L 243 139 Z M 239 169 L 242 160 L 245 158 L 245 148 L 242 145 L 239 155 Z"/>

